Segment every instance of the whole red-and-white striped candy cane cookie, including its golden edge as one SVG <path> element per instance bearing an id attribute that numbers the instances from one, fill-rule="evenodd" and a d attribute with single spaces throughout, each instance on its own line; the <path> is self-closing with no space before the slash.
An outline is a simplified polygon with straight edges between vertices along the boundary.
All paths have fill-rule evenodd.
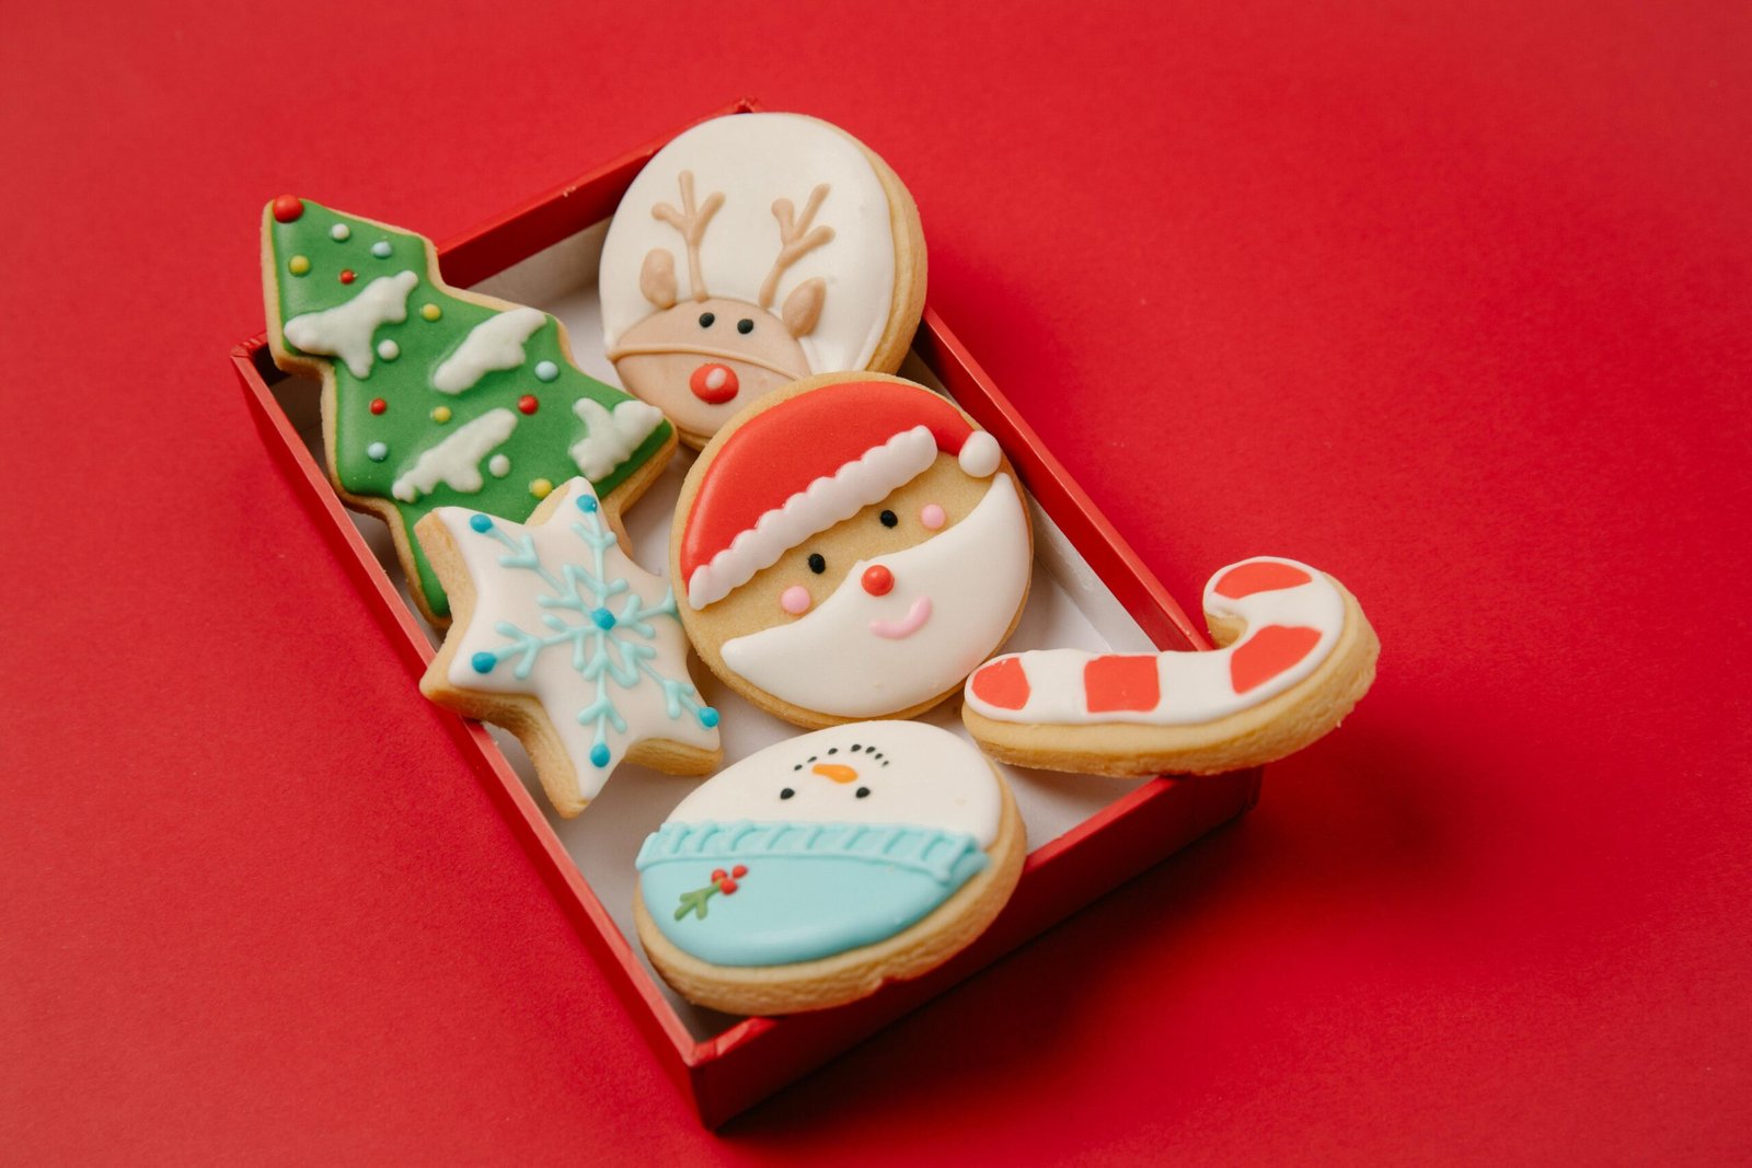
<path id="1" fill-rule="evenodd" d="M 993 758 L 1093 774 L 1216 774 L 1295 753 L 1375 678 L 1381 643 L 1307 564 L 1230 564 L 1204 595 L 1211 653 L 1037 650 L 981 665 L 962 721 Z"/>

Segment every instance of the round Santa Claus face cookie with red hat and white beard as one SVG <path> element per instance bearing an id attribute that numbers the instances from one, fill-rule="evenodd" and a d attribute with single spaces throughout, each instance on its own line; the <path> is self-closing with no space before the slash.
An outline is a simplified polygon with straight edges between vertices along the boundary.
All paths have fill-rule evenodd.
<path id="1" fill-rule="evenodd" d="M 773 392 L 682 487 L 671 578 L 701 660 L 787 721 L 911 718 L 1016 627 L 1028 511 L 992 434 L 894 376 Z"/>

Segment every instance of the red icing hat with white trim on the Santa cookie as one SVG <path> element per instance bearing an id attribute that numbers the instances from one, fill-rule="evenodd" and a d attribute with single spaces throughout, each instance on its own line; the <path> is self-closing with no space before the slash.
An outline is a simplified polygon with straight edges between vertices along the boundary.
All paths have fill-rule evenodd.
<path id="1" fill-rule="evenodd" d="M 682 580 L 717 604 L 785 552 L 955 455 L 974 478 L 1002 454 L 944 398 L 904 382 L 843 382 L 748 419 L 699 480 L 682 529 Z"/>

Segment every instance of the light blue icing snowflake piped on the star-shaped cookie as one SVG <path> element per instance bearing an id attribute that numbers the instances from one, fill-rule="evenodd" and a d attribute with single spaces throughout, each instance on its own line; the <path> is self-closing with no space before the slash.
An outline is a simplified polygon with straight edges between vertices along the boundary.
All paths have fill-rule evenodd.
<path id="1" fill-rule="evenodd" d="M 618 762 L 618 751 L 608 742 L 608 732 L 627 732 L 627 721 L 615 706 L 617 686 L 631 690 L 641 679 L 650 681 L 662 692 L 669 718 L 690 716 L 708 730 L 718 725 L 718 711 L 699 700 L 699 692 L 685 672 L 680 678 L 668 678 L 652 665 L 652 658 L 657 657 L 655 622 L 673 620 L 680 625 L 675 588 L 664 588 L 661 602 L 646 604 L 625 580 L 610 578 L 608 552 L 615 548 L 615 532 L 603 524 L 601 506 L 594 497 L 580 496 L 578 511 L 580 520 L 571 524 L 571 531 L 589 550 L 589 567 L 561 564 L 557 574 L 541 562 L 534 538 L 527 532 L 515 538 L 489 515 L 470 517 L 470 529 L 505 546 L 506 555 L 499 557 L 501 567 L 531 571 L 552 588 L 550 595 L 536 599 L 545 609 L 541 623 L 547 625 L 547 632 L 531 632 L 501 620 L 492 630 L 505 637 L 505 644 L 475 653 L 470 657 L 470 665 L 478 674 L 489 674 L 512 662 L 512 676 L 526 681 L 543 653 L 569 648 L 571 667 L 585 681 L 596 681 L 596 700 L 573 716 L 580 725 L 596 728 L 590 765 L 610 770 Z M 617 597 L 620 597 L 618 608 L 611 608 Z"/>

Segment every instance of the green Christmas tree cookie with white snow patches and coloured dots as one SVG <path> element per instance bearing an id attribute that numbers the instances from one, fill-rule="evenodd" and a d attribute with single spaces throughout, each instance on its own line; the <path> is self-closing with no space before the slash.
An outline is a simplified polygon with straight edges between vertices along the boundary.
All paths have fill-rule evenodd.
<path id="1" fill-rule="evenodd" d="M 576 475 L 610 527 L 662 471 L 675 427 L 582 373 L 559 320 L 449 287 L 431 242 L 293 196 L 263 212 L 275 362 L 322 380 L 329 480 L 389 524 L 415 602 L 450 602 L 410 532 L 440 506 L 522 520 Z"/>

